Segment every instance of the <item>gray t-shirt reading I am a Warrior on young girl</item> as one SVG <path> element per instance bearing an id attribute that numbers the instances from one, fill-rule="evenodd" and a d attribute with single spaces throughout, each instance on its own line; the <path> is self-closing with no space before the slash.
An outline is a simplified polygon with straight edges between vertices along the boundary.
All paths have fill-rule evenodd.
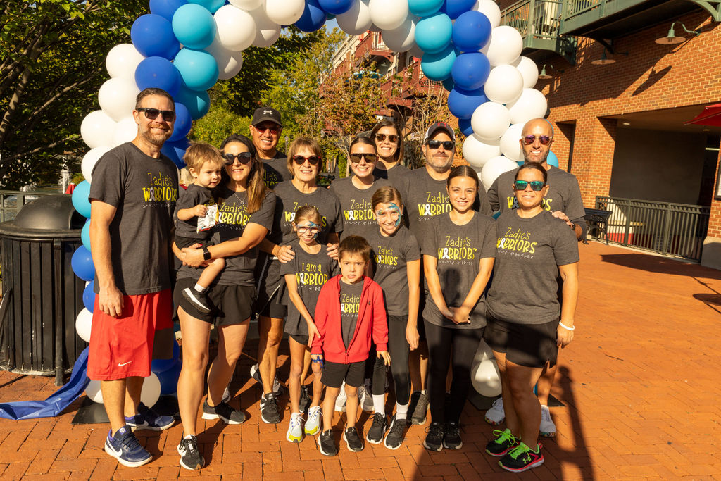
<path id="1" fill-rule="evenodd" d="M 315 306 L 318 301 L 320 289 L 323 284 L 334 275 L 340 274 L 338 262 L 328 256 L 328 248 L 321 244 L 320 251 L 317 254 L 309 254 L 299 245 L 298 239 L 290 242 L 293 246 L 293 257 L 291 262 L 280 264 L 280 274 L 293 274 L 296 276 L 296 286 L 298 287 L 298 295 L 303 299 L 306 309 L 314 315 Z M 286 319 L 286 332 L 293 335 L 308 335 L 308 325 L 301 313 L 296 309 L 296 305 L 288 296 L 288 289 L 283 304 L 288 306 L 288 318 Z"/>

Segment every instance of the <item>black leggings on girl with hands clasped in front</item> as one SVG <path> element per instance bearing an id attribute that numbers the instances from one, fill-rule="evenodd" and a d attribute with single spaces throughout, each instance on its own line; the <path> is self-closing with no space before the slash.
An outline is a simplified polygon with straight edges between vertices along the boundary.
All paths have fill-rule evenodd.
<path id="1" fill-rule="evenodd" d="M 428 342 L 428 401 L 431 420 L 458 423 L 471 387 L 471 365 L 483 337 L 483 328 L 451 329 L 425 323 Z M 451 354 L 451 350 L 453 353 Z M 453 365 L 451 396 L 446 403 L 448 365 Z"/>

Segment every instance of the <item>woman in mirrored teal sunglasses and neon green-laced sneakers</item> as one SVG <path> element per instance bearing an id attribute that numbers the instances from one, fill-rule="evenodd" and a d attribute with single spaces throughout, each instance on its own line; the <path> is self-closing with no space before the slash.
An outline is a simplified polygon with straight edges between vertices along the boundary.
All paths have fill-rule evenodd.
<path id="1" fill-rule="evenodd" d="M 575 329 L 578 242 L 564 221 L 544 210 L 547 182 L 541 164 L 523 164 L 513 182 L 518 208 L 496 221 L 498 243 L 485 339 L 500 371 L 506 429 L 493 431 L 497 438 L 487 444 L 486 452 L 500 457 L 500 466 L 512 472 L 544 462 L 536 442 L 541 404 L 533 389 L 544 366 L 556 364 L 557 348 L 571 342 Z"/>

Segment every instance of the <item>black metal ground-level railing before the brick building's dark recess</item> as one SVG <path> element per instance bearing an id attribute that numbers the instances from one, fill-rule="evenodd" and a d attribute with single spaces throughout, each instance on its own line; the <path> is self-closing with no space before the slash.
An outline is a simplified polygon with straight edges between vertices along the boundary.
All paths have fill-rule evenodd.
<path id="1" fill-rule="evenodd" d="M 709 207 L 599 195 L 596 208 L 613 212 L 607 234 L 611 242 L 701 260 Z"/>

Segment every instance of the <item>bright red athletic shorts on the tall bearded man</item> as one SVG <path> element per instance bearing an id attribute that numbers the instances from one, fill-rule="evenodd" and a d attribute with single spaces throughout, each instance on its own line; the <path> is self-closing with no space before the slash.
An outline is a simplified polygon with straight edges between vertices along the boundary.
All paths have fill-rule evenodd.
<path id="1" fill-rule="evenodd" d="M 87 376 L 94 381 L 150 376 L 155 330 L 172 325 L 170 289 L 123 296 L 121 317 L 102 312 L 95 296 Z"/>

